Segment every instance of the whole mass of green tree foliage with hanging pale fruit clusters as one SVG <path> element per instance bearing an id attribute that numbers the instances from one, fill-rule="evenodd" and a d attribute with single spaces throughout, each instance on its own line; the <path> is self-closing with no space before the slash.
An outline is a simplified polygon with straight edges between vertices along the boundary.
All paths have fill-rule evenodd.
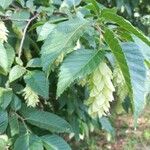
<path id="1" fill-rule="evenodd" d="M 0 149 L 70 150 L 67 141 L 97 129 L 114 136 L 108 115 L 119 98 L 128 97 L 136 126 L 146 104 L 150 39 L 104 5 L 0 1 Z M 116 68 L 125 96 L 122 84 L 113 85 Z"/>

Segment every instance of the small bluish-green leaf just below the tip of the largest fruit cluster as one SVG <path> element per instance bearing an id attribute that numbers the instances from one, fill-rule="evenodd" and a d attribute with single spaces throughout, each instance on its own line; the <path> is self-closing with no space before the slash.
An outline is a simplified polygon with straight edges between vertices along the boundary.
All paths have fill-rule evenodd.
<path id="1" fill-rule="evenodd" d="M 108 118 L 102 117 L 99 119 L 99 121 L 102 125 L 102 129 L 106 130 L 107 132 L 109 132 L 113 136 L 115 135 L 115 129 L 112 127 Z"/>

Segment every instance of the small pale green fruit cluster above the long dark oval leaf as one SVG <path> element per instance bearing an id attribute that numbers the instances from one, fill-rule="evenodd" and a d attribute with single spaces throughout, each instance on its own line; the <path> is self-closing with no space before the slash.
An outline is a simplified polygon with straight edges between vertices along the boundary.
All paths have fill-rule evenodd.
<path id="1" fill-rule="evenodd" d="M 26 86 L 23 89 L 23 96 L 27 106 L 35 107 L 39 102 L 39 97 L 30 87 Z"/>

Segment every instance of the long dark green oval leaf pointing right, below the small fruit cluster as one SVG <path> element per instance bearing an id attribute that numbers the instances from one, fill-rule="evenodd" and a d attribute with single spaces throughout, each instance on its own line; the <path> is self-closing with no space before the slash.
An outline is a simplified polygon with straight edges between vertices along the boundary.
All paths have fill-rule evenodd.
<path id="1" fill-rule="evenodd" d="M 58 133 L 71 131 L 69 123 L 55 114 L 25 106 L 22 107 L 20 113 L 28 123 L 39 128 Z"/>

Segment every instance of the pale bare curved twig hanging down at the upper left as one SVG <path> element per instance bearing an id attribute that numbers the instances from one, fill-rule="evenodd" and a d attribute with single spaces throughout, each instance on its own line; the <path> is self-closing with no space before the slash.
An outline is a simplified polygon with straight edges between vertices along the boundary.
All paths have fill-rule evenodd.
<path id="1" fill-rule="evenodd" d="M 22 54 L 22 47 L 23 47 L 23 43 L 24 43 L 24 39 L 25 39 L 25 36 L 26 36 L 26 32 L 27 32 L 27 29 L 30 25 L 30 23 L 38 17 L 39 14 L 36 14 L 35 16 L 33 16 L 27 23 L 27 25 L 25 26 L 24 28 L 24 31 L 23 31 L 23 37 L 21 39 L 21 43 L 20 43 L 20 47 L 19 47 L 19 52 L 18 52 L 18 57 L 20 58 L 21 57 L 21 54 Z"/>

